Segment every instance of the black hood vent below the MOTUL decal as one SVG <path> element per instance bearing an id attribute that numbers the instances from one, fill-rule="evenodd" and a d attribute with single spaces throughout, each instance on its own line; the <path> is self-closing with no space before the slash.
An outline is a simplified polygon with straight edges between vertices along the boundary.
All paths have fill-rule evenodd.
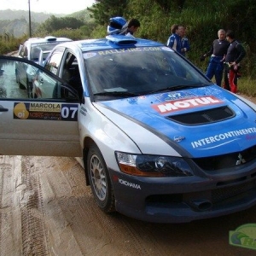
<path id="1" fill-rule="evenodd" d="M 203 111 L 183 113 L 166 117 L 182 125 L 206 125 L 231 119 L 236 113 L 227 106 L 221 108 L 211 108 Z"/>

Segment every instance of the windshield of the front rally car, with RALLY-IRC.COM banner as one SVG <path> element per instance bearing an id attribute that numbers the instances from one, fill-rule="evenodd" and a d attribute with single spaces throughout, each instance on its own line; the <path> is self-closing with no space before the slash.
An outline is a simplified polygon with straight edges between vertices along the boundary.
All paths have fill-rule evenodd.
<path id="1" fill-rule="evenodd" d="M 167 47 L 85 52 L 94 95 L 147 95 L 211 84 L 188 61 Z"/>

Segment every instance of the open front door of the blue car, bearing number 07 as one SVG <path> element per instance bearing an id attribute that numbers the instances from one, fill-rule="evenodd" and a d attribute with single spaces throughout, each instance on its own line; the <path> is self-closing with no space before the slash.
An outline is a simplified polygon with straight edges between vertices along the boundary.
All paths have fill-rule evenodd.
<path id="1" fill-rule="evenodd" d="M 17 64 L 31 65 L 51 81 L 57 96 L 28 98 L 16 83 Z M 36 75 L 33 84 L 37 82 Z M 81 156 L 79 97 L 44 67 L 22 58 L 0 56 L 0 154 Z"/>

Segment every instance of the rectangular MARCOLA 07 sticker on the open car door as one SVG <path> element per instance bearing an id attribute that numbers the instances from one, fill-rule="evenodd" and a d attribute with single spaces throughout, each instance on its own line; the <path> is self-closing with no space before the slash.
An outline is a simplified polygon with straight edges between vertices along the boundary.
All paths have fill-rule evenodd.
<path id="1" fill-rule="evenodd" d="M 78 104 L 15 102 L 14 119 L 77 121 Z"/>

